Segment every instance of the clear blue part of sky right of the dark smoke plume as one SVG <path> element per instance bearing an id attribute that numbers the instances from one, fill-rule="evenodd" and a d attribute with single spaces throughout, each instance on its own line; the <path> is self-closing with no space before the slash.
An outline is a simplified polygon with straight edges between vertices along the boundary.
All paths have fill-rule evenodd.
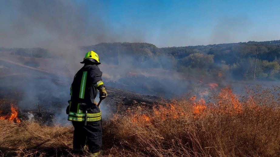
<path id="1" fill-rule="evenodd" d="M 280 39 L 280 1 L 86 2 L 123 41 L 158 47 Z M 125 31 L 124 31 L 125 30 Z"/>

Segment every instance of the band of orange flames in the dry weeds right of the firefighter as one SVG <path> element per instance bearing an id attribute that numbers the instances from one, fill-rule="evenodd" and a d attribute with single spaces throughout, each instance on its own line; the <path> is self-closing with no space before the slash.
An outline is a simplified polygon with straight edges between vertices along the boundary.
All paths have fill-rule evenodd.
<path id="1" fill-rule="evenodd" d="M 221 89 L 216 98 L 217 102 L 207 101 L 206 103 L 203 98 L 194 95 L 189 99 L 179 102 L 175 101 L 174 103 L 166 103 L 165 105 L 159 105 L 157 107 L 153 106 L 152 113 L 148 115 L 142 113 L 130 114 L 130 120 L 134 123 L 153 125 L 157 123 L 158 120 L 180 120 L 181 118 L 189 116 L 199 118 L 207 115 L 208 112 L 234 115 L 242 113 L 244 110 L 243 104 L 239 102 L 238 96 L 233 94 L 230 87 Z M 247 103 L 251 107 L 255 106 L 253 97 L 249 97 Z M 258 110 L 257 107 L 256 110 Z"/>

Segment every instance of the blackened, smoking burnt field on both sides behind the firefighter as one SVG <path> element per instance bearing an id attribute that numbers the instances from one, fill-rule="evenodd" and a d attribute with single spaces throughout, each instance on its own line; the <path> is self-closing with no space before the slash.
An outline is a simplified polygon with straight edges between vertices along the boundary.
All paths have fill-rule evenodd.
<path id="1" fill-rule="evenodd" d="M 10 104 L 14 104 L 19 108 L 21 120 L 33 118 L 44 124 L 68 123 L 65 109 L 72 78 L 11 61 L 0 60 L 0 64 L 1 115 L 9 114 Z M 101 103 L 104 118 L 116 110 L 125 112 L 127 106 L 141 104 L 151 108 L 153 103 L 161 101 L 157 96 L 112 87 L 106 89 L 109 96 Z"/>

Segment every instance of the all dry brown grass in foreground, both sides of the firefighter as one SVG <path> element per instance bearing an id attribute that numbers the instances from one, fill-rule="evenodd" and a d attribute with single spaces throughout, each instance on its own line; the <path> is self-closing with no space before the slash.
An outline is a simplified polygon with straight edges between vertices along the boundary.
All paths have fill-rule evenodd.
<path id="1" fill-rule="evenodd" d="M 237 97 L 224 88 L 206 102 L 185 97 L 115 114 L 103 122 L 102 154 L 279 156 L 279 91 L 258 86 Z M 3 156 L 66 156 L 71 150 L 70 127 L 7 121 L 0 126 Z"/>

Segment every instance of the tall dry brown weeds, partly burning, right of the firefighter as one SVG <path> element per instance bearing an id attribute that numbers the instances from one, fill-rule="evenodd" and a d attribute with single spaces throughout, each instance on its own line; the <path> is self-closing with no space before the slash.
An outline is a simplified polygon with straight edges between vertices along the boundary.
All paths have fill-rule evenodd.
<path id="1" fill-rule="evenodd" d="M 227 87 L 207 103 L 191 97 L 135 108 L 104 123 L 105 146 L 123 156 L 279 156 L 279 91 L 257 86 L 236 96 Z"/>

